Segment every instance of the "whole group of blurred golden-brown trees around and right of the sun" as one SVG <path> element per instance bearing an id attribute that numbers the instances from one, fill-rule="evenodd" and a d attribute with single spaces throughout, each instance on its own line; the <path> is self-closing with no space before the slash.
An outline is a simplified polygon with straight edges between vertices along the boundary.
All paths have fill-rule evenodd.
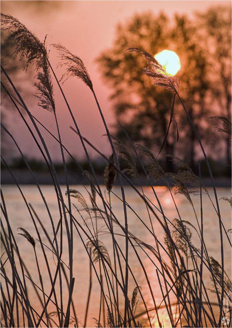
<path id="1" fill-rule="evenodd" d="M 140 48 L 155 55 L 175 51 L 181 63 L 180 97 L 204 143 L 230 164 L 230 144 L 225 133 L 216 133 L 204 119 L 221 115 L 228 119 L 231 109 L 231 10 L 214 8 L 194 19 L 176 15 L 170 21 L 163 13 L 135 15 L 116 31 L 114 45 L 97 62 L 105 81 L 112 87 L 116 119 L 133 141 L 141 142 L 158 154 L 167 132 L 173 92 L 154 86 L 142 72 L 147 61 L 141 54 L 126 51 Z M 159 155 L 175 154 L 192 168 L 199 156 L 194 132 L 178 99 L 164 149 Z M 126 136 L 116 125 L 117 136 Z M 172 166 L 166 160 L 166 169 Z"/>

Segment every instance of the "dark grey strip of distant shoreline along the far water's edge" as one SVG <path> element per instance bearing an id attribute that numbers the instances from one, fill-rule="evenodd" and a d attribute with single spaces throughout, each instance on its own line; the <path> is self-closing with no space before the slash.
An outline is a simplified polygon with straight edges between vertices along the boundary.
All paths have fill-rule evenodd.
<path id="1" fill-rule="evenodd" d="M 30 172 L 24 171 L 24 170 L 11 170 L 12 174 L 14 175 L 15 179 L 19 184 L 35 184 L 34 179 Z M 53 181 L 51 178 L 50 173 L 44 173 L 44 172 L 34 172 L 34 175 L 37 179 L 37 182 L 39 184 L 45 184 L 45 185 L 52 185 Z M 65 176 L 62 173 L 57 173 L 59 183 L 66 184 Z M 130 177 L 129 177 L 130 178 Z M 73 172 L 68 172 L 68 179 L 69 184 L 72 185 L 78 185 L 78 184 L 89 184 L 89 181 L 83 176 L 83 175 L 77 175 Z M 98 183 L 104 184 L 104 176 L 103 175 L 97 175 Z M 136 181 L 135 178 L 130 178 L 131 181 L 134 183 L 134 185 L 139 185 L 139 182 Z M 148 185 L 146 181 L 146 177 L 144 175 L 139 175 L 139 181 L 141 185 Z M 170 181 L 172 185 L 172 181 Z M 212 187 L 212 182 L 210 177 L 202 177 L 202 183 L 205 187 Z M 228 176 L 216 176 L 214 178 L 214 183 L 216 187 L 224 187 L 224 188 L 231 188 L 231 177 Z M 11 176 L 10 172 L 6 169 L 1 170 L 1 184 L 15 184 L 13 177 Z M 124 185 L 128 185 L 128 182 L 126 180 L 123 180 Z M 118 179 L 115 181 L 115 185 L 119 185 Z M 156 181 L 153 183 L 154 186 L 164 186 L 165 182 L 163 180 Z"/>

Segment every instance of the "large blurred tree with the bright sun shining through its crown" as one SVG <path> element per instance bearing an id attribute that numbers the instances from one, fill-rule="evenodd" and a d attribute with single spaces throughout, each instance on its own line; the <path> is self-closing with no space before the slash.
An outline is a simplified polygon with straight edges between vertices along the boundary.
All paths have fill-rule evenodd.
<path id="1" fill-rule="evenodd" d="M 199 20 L 191 21 L 187 16 L 176 15 L 170 22 L 162 13 L 157 17 L 152 13 L 135 15 L 124 26 L 117 27 L 113 47 L 97 59 L 103 77 L 114 90 L 111 98 L 116 118 L 133 141 L 142 142 L 157 154 L 167 132 L 174 94 L 154 86 L 151 78 L 142 72 L 142 68 L 147 66 L 146 59 L 125 50 L 136 47 L 155 55 L 168 49 L 178 54 L 181 62 L 181 70 L 177 73 L 181 79 L 179 94 L 200 138 L 207 139 L 209 133 L 215 135 L 212 127 L 203 122 L 206 116 L 212 114 L 206 106 L 212 93 L 207 71 L 208 57 L 204 44 L 200 42 L 198 29 Z M 179 142 L 176 143 L 176 126 L 172 122 L 164 153 L 181 153 L 184 160 L 193 166 L 197 142 L 178 101 L 173 119 L 178 124 Z M 120 127 L 117 136 L 125 140 Z M 167 161 L 168 170 L 172 169 L 169 163 Z"/>

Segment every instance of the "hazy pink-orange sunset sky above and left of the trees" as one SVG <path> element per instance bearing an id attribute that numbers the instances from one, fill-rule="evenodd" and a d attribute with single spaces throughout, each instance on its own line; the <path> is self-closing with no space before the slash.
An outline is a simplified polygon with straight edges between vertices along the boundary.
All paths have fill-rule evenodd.
<path id="1" fill-rule="evenodd" d="M 39 4 L 35 7 L 35 3 Z M 117 1 L 117 0 L 100 0 L 100 1 L 1 1 L 1 12 L 8 13 L 17 17 L 27 26 L 40 40 L 48 34 L 48 49 L 51 43 L 60 42 L 74 54 L 77 54 L 84 62 L 91 76 L 94 90 L 102 112 L 107 121 L 108 127 L 115 123 L 115 118 L 111 109 L 109 95 L 110 89 L 103 84 L 100 73 L 95 64 L 95 58 L 102 51 L 112 46 L 116 25 L 124 23 L 135 13 L 144 11 L 153 11 L 158 14 L 161 10 L 170 17 L 178 13 L 192 15 L 194 11 L 203 12 L 209 7 L 218 5 L 231 5 L 231 1 Z M 52 6 L 51 6 L 52 5 Z M 51 49 L 51 63 L 53 69 L 56 68 L 58 59 L 56 53 Z M 60 78 L 63 70 L 57 71 Z M 56 112 L 61 128 L 61 138 L 65 146 L 79 158 L 83 158 L 83 150 L 80 147 L 78 138 L 69 129 L 74 124 L 70 119 L 68 110 L 60 96 L 60 92 L 55 86 Z M 63 85 L 63 90 L 67 96 L 68 102 L 73 110 L 78 127 L 83 136 L 94 143 L 103 153 L 109 155 L 110 147 L 106 137 L 100 114 L 98 112 L 94 97 L 90 89 L 83 82 L 71 78 Z M 32 92 L 36 90 L 32 89 Z M 28 100 L 28 106 L 34 116 L 41 120 L 47 128 L 55 133 L 55 122 L 52 113 L 46 112 L 35 106 Z M 29 157 L 40 158 L 36 146 L 31 137 L 25 131 L 24 125 L 20 123 L 15 114 L 11 124 L 8 124 L 10 132 L 23 151 Z M 26 117 L 26 116 L 25 116 Z M 61 160 L 59 145 L 54 144 L 47 139 L 50 145 L 50 151 L 54 160 Z M 15 155 L 18 153 L 15 152 Z M 92 156 L 95 152 L 91 151 Z"/>

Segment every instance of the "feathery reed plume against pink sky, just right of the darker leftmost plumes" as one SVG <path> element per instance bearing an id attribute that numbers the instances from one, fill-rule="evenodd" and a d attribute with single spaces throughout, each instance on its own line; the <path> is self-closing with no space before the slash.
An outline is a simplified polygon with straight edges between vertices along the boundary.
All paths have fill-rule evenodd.
<path id="1" fill-rule="evenodd" d="M 80 57 L 72 54 L 61 44 L 52 44 L 52 46 L 58 51 L 58 57 L 61 59 L 61 62 L 57 67 L 62 67 L 64 65 L 66 66 L 66 72 L 62 75 L 60 81 L 66 77 L 66 79 L 63 81 L 64 83 L 69 77 L 76 76 L 93 91 L 93 84 L 89 73 L 87 72 L 87 69 Z"/>

